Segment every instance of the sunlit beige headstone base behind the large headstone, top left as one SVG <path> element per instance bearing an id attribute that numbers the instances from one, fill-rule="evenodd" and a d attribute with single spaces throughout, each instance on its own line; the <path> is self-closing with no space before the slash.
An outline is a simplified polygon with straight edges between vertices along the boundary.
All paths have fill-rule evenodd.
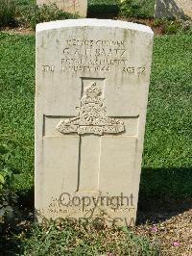
<path id="1" fill-rule="evenodd" d="M 87 0 L 36 0 L 38 6 L 56 4 L 60 10 L 67 13 L 78 13 L 86 16 Z"/>

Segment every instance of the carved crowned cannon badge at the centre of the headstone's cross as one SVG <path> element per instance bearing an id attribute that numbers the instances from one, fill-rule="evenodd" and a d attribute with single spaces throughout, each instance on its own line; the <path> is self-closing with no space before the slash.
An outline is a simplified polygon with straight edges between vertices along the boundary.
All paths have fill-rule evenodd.
<path id="1" fill-rule="evenodd" d="M 101 97 L 102 91 L 96 83 L 91 84 L 84 91 L 81 98 L 79 115 L 66 120 L 61 120 L 57 130 L 62 134 L 118 134 L 125 131 L 122 120 L 111 118 L 107 115 L 104 106 L 105 99 Z"/>

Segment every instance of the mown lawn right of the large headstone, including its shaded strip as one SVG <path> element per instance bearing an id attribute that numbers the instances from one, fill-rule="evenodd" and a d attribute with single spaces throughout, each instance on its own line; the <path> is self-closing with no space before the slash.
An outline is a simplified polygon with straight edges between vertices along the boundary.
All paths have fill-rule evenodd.
<path id="1" fill-rule="evenodd" d="M 156 38 L 140 192 L 192 197 L 191 36 Z"/>

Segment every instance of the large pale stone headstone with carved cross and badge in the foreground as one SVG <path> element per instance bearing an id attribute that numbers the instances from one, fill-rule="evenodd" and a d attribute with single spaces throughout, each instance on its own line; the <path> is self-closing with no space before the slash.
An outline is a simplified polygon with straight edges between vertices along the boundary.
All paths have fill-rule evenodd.
<path id="1" fill-rule="evenodd" d="M 152 48 L 125 21 L 37 25 L 37 218 L 134 224 Z"/>

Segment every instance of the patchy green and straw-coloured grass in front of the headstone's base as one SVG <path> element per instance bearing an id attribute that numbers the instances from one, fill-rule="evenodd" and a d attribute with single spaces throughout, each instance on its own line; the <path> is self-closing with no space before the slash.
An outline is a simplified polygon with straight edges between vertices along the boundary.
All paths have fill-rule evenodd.
<path id="1" fill-rule="evenodd" d="M 19 255 L 159 255 L 158 245 L 126 228 L 107 227 L 102 222 L 49 221 L 33 225 L 31 233 L 14 238 Z M 12 246 L 10 246 L 12 251 Z M 14 250 L 17 252 L 17 250 Z"/>

